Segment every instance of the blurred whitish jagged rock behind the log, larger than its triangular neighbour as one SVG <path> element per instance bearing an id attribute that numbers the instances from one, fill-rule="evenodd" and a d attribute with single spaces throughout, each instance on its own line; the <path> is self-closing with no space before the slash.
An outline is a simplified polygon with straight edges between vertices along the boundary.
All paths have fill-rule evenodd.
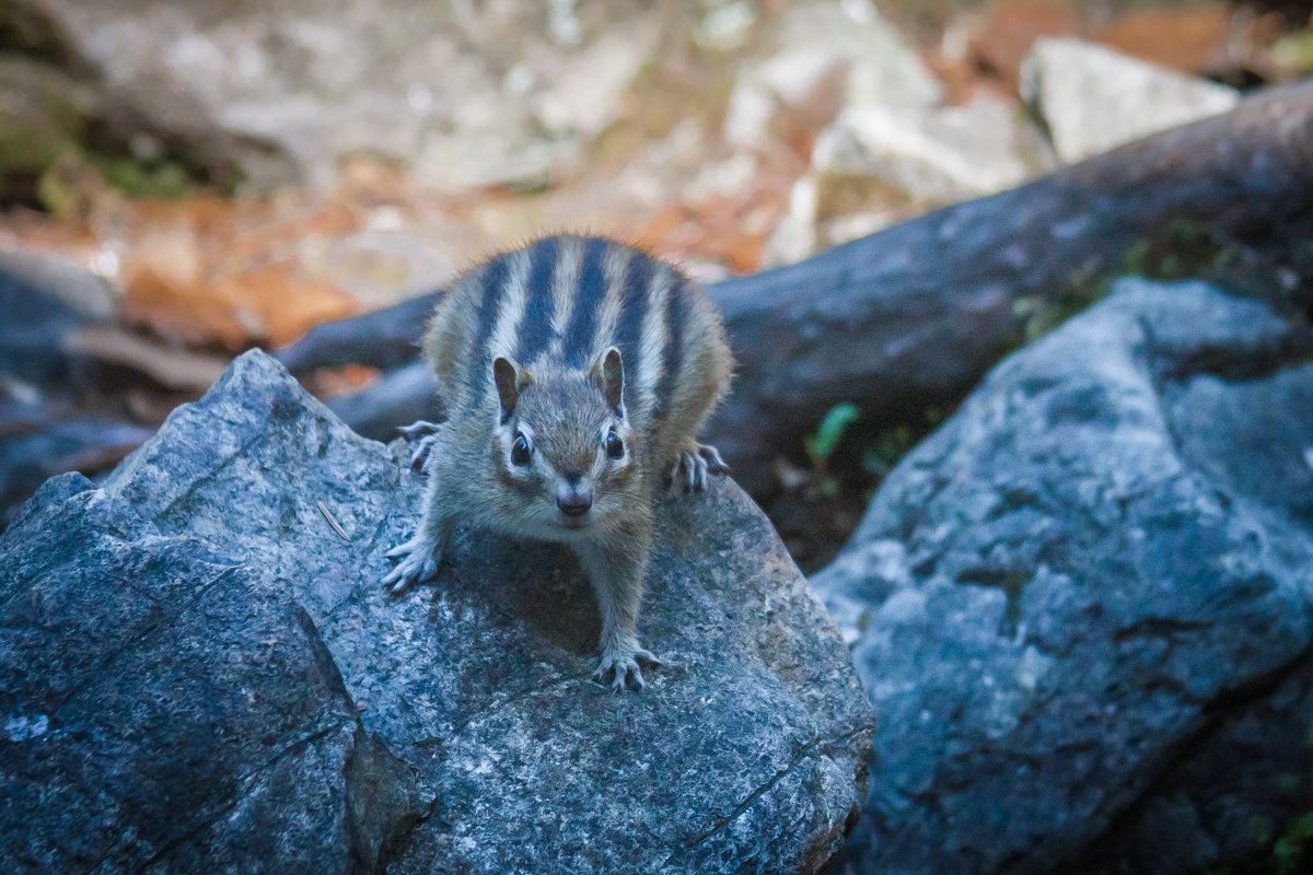
<path id="1" fill-rule="evenodd" d="M 797 7 L 764 42 L 771 51 L 746 64 L 730 94 L 726 143 L 764 150 L 781 113 L 814 117 L 834 102 L 810 125 L 819 129 L 810 165 L 767 241 L 765 266 L 873 234 L 927 203 L 994 194 L 1045 167 L 1015 105 L 945 105 L 916 50 L 865 3 Z"/>

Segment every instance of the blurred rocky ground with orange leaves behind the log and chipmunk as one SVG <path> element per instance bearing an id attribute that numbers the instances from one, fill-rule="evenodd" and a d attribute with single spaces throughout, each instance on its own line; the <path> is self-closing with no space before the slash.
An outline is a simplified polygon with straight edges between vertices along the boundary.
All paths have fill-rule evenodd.
<path id="1" fill-rule="evenodd" d="M 0 0 L 0 527 L 240 350 L 525 237 L 716 282 L 1310 71 L 1304 3 Z M 948 412 L 780 447 L 755 497 L 805 571 Z"/>

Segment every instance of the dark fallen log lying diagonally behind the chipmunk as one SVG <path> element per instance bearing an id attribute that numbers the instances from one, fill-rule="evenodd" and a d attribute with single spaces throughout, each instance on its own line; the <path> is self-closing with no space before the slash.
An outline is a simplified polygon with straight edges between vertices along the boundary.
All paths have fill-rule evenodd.
<path id="1" fill-rule="evenodd" d="M 953 405 L 1002 356 L 1124 273 L 1207 277 L 1280 306 L 1306 304 L 1313 81 L 801 264 L 710 286 L 738 367 L 709 439 L 760 493 L 771 462 L 800 455 L 832 405 L 855 403 L 874 428 Z M 397 365 L 414 356 L 428 306 L 415 299 L 324 325 L 281 358 L 297 371 Z M 387 417 L 369 403 L 373 391 L 351 405 L 377 424 Z M 397 403 L 391 380 L 377 391 Z"/>

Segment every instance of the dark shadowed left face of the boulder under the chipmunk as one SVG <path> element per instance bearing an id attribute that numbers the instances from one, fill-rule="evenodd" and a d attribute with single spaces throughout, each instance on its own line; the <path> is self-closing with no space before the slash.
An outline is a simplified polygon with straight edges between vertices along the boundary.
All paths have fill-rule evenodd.
<path id="1" fill-rule="evenodd" d="M 0 540 L 9 872 L 370 870 L 419 816 L 285 585 L 76 474 Z"/>

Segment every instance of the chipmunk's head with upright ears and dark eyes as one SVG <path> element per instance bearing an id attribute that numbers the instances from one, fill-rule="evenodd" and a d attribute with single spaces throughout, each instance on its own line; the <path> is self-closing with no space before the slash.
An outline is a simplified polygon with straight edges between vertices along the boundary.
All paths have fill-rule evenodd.
<path id="1" fill-rule="evenodd" d="M 538 375 L 500 357 L 492 378 L 492 454 L 504 510 L 558 540 L 614 523 L 642 488 L 620 350 L 608 349 L 587 371 Z"/>

